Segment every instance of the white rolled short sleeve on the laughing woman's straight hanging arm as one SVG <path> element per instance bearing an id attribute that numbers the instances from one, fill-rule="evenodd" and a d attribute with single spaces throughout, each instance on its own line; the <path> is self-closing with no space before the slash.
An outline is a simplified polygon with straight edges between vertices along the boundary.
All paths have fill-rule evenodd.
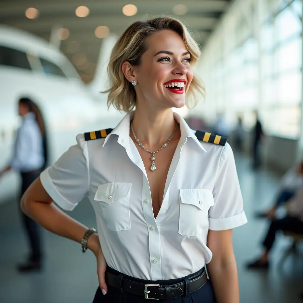
<path id="1" fill-rule="evenodd" d="M 235 159 L 228 143 L 221 154 L 213 196 L 215 203 L 208 212 L 209 229 L 227 230 L 247 223 Z"/>

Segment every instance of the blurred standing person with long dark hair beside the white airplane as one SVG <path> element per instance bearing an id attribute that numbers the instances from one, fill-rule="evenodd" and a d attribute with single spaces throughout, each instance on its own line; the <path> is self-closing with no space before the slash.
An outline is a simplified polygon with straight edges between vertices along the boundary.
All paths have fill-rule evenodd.
<path id="1" fill-rule="evenodd" d="M 21 195 L 31 183 L 39 177 L 47 162 L 47 140 L 45 123 L 38 106 L 28 98 L 18 102 L 18 114 L 22 124 L 17 131 L 15 148 L 11 161 L 0 171 L 0 178 L 14 169 L 20 172 L 22 178 Z M 20 202 L 18 202 L 20 209 Z M 21 211 L 22 223 L 28 238 L 30 255 L 24 264 L 18 265 L 20 272 L 39 270 L 42 260 L 42 244 L 37 222 Z"/>

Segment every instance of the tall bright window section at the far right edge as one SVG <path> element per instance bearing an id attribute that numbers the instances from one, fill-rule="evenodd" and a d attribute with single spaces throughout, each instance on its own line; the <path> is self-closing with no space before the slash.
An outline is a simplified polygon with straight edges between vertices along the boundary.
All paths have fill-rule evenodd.
<path id="1" fill-rule="evenodd" d="M 302 91 L 302 22 L 298 3 L 284 8 L 261 27 L 261 91 L 265 130 L 298 138 Z M 301 6 L 302 8 L 302 6 Z"/>

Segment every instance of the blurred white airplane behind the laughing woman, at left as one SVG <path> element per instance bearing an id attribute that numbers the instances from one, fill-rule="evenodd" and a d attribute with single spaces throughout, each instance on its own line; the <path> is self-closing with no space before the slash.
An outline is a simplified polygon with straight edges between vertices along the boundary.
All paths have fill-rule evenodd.
<path id="1" fill-rule="evenodd" d="M 118 124 L 123 114 L 108 111 L 106 96 L 99 94 L 106 87 L 107 60 L 116 39 L 113 35 L 104 39 L 95 78 L 85 85 L 58 48 L 30 33 L 0 25 L 0 169 L 12 156 L 21 97 L 32 98 L 42 111 L 50 163 L 75 144 L 78 133 Z M 19 181 L 17 172 L 3 176 L 0 203 L 18 197 Z"/>

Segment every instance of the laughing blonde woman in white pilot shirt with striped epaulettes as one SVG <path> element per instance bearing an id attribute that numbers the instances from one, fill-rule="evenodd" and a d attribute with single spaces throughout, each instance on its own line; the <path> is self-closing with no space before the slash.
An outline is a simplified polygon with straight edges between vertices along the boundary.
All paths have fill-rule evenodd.
<path id="1" fill-rule="evenodd" d="M 108 66 L 108 105 L 127 115 L 79 134 L 22 198 L 43 227 L 93 251 L 94 303 L 239 303 L 232 229 L 247 219 L 233 152 L 226 138 L 202 142 L 172 110 L 204 95 L 192 70 L 199 55 L 175 18 L 130 25 Z M 53 203 L 72 210 L 84 197 L 98 234 Z"/>

